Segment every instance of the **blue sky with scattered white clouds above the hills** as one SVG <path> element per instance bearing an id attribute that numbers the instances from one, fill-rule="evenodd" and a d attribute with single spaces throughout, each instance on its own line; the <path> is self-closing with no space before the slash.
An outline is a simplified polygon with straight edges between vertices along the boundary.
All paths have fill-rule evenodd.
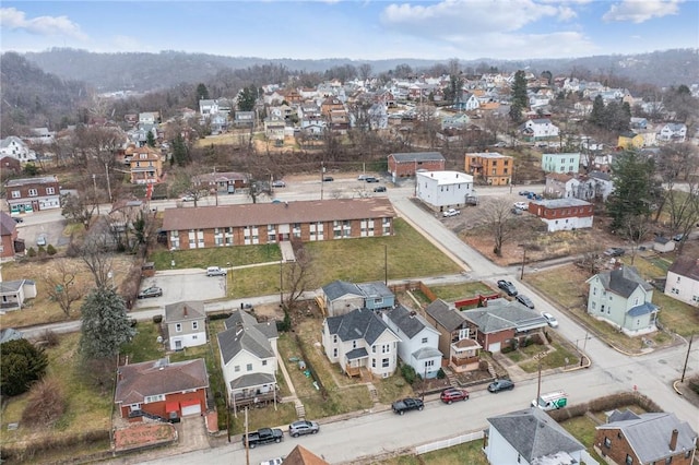
<path id="1" fill-rule="evenodd" d="M 571 58 L 699 48 L 699 0 L 11 1 L 0 50 L 266 59 Z"/>

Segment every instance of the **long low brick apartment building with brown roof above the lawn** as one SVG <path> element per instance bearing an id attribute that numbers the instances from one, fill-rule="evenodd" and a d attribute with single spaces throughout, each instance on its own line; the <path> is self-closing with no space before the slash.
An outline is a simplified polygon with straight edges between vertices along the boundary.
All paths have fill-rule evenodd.
<path id="1" fill-rule="evenodd" d="M 163 230 L 175 250 L 393 235 L 386 198 L 166 208 Z"/>

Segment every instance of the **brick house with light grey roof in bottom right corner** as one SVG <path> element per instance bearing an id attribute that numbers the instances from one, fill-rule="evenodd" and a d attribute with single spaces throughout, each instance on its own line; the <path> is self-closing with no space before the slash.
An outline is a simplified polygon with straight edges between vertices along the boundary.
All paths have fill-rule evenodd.
<path id="1" fill-rule="evenodd" d="M 594 450 L 608 464 L 691 465 L 697 433 L 671 413 L 614 410 L 596 427 Z"/>

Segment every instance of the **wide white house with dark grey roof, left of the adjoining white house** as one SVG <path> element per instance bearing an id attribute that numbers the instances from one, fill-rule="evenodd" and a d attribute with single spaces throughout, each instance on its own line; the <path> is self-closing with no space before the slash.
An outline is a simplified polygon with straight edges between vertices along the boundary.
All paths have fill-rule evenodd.
<path id="1" fill-rule="evenodd" d="M 332 363 L 350 377 L 363 370 L 388 378 L 398 368 L 401 339 L 371 310 L 356 309 L 323 321 L 322 345 Z"/>

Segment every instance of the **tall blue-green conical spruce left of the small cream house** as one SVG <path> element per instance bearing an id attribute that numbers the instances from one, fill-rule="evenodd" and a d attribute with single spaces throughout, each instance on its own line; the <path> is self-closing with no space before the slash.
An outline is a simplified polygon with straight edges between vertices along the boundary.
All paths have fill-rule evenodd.
<path id="1" fill-rule="evenodd" d="M 107 359 L 119 354 L 134 331 L 127 318 L 127 306 L 111 286 L 95 287 L 81 308 L 80 351 L 85 360 Z"/>

